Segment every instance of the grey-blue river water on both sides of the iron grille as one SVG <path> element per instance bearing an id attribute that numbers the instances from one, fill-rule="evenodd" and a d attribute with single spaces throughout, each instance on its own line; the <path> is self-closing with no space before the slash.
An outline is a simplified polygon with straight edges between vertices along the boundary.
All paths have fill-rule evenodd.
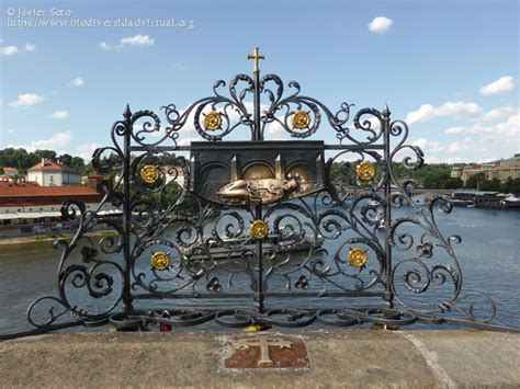
<path id="1" fill-rule="evenodd" d="M 497 316 L 494 323 L 520 328 L 520 211 L 454 208 L 450 215 L 440 214 L 438 225 L 445 237 L 459 234 L 463 239 L 454 245 L 463 273 L 463 290 L 484 293 L 495 300 Z M 0 333 L 32 328 L 25 311 L 34 299 L 55 295 L 59 255 L 49 242 L 0 247 Z M 279 286 L 283 287 L 282 284 Z M 352 306 L 351 299 L 348 300 L 340 305 Z M 192 301 L 184 304 L 189 306 Z M 214 306 L 218 302 L 204 304 Z M 224 300 L 222 306 L 230 308 L 235 304 L 251 307 L 249 299 Z M 267 301 L 269 304 L 271 301 Z M 313 304 L 324 308 L 338 307 L 338 299 L 305 301 L 307 306 Z M 295 305 L 296 301 L 272 301 L 274 307 Z M 165 307 L 165 301 L 136 304 L 137 308 L 140 306 Z"/>

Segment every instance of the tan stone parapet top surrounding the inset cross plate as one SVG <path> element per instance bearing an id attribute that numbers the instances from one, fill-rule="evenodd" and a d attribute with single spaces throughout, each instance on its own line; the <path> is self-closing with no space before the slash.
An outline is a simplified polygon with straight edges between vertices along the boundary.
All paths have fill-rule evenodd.
<path id="1" fill-rule="evenodd" d="M 520 387 L 520 334 L 269 331 L 302 340 L 310 367 L 225 368 L 237 340 L 263 334 L 74 333 L 5 341 L 0 387 Z"/>

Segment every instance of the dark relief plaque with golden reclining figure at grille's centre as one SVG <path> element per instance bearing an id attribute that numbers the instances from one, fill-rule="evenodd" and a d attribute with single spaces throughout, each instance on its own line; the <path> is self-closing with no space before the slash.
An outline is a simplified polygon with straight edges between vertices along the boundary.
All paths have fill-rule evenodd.
<path id="1" fill-rule="evenodd" d="M 223 205 L 262 205 L 324 188 L 323 141 L 191 144 L 193 192 Z"/>

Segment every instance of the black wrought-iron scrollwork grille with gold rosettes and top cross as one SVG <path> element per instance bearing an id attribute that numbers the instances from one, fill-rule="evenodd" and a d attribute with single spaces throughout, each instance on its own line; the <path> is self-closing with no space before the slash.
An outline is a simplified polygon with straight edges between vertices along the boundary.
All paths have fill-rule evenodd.
<path id="1" fill-rule="evenodd" d="M 285 88 L 276 75 L 261 77 L 258 49 L 250 57 L 252 76 L 233 77 L 227 89 L 216 81 L 213 95 L 185 110 L 162 106 L 166 125 L 152 111 L 126 107 L 112 145 L 92 157 L 111 178 L 99 184 L 100 204 L 90 210 L 71 199 L 61 208 L 78 227 L 55 243 L 57 294 L 30 306 L 35 329 L 2 339 L 109 322 L 142 331 L 208 321 L 501 329 L 490 323 L 489 297 L 463 291 L 461 238 L 444 237 L 436 218 L 452 205 L 417 205 L 417 184 L 396 175 L 397 164 L 411 173 L 423 163 L 406 144 L 407 124 L 391 119 L 387 106 L 332 111 L 295 81 Z M 265 140 L 271 125 L 291 140 Z M 308 140 L 320 129 L 336 142 Z M 193 133 L 200 141 L 184 141 Z M 231 134 L 250 139 L 228 141 Z M 100 217 L 109 204 L 122 216 Z M 99 227 L 111 234 L 94 238 Z M 376 304 L 359 307 L 359 297 Z M 136 308 L 156 299 L 165 307 Z M 308 307 L 294 308 L 294 299 Z"/>

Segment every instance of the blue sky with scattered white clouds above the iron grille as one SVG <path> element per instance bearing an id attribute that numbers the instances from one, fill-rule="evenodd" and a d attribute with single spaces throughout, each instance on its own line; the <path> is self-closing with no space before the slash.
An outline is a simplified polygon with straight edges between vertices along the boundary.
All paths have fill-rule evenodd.
<path id="1" fill-rule="evenodd" d="M 162 25 L 127 25 L 147 20 Z M 250 73 L 259 46 L 262 75 L 296 80 L 335 112 L 387 103 L 427 162 L 520 152 L 515 0 L 3 0 L 0 23 L 0 148 L 90 160 L 127 103 L 163 119 L 162 105 L 183 110 Z M 326 126 L 313 139 L 337 142 Z"/>

